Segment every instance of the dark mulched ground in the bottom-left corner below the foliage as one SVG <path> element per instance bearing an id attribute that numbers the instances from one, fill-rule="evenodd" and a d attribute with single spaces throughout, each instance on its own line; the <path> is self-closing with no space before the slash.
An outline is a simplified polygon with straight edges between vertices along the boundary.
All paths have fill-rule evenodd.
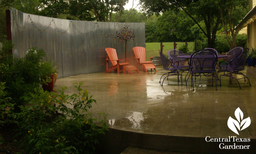
<path id="1" fill-rule="evenodd" d="M 0 154 L 4 153 L 24 153 L 24 150 L 20 148 L 21 139 L 19 136 L 15 137 L 16 132 L 13 130 L 13 126 L 6 125 L 0 131 L 0 136 L 3 137 L 3 144 L 0 145 Z"/>

